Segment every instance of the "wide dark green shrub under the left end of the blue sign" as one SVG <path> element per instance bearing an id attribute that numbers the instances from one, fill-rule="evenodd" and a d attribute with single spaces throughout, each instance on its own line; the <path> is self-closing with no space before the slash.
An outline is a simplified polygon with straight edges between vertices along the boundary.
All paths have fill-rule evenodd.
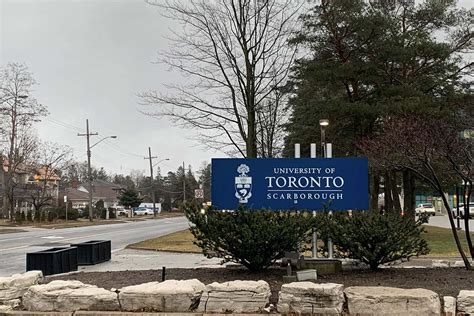
<path id="1" fill-rule="evenodd" d="M 251 271 L 261 271 L 296 251 L 311 233 L 306 213 L 268 210 L 215 211 L 202 213 L 197 207 L 185 209 L 193 223 L 190 230 L 208 258 L 236 262 Z"/>

